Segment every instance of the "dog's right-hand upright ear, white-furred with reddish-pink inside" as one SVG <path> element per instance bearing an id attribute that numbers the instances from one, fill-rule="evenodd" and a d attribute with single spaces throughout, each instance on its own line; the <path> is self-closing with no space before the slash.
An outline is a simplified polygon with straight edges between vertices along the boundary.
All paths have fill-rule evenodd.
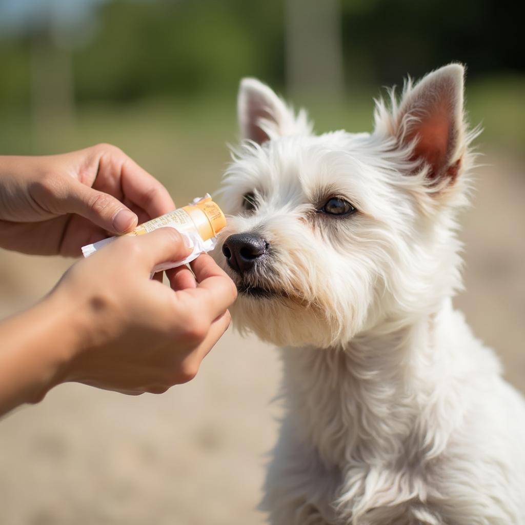
<path id="1" fill-rule="evenodd" d="M 433 183 L 454 183 L 461 167 L 468 140 L 465 139 L 463 78 L 465 70 L 450 64 L 424 77 L 412 86 L 407 82 L 399 106 L 387 118 L 387 132 L 401 147 L 412 148 L 412 161 L 427 166 Z M 380 123 L 384 125 L 380 115 Z M 381 122 L 382 121 L 382 122 Z"/>

